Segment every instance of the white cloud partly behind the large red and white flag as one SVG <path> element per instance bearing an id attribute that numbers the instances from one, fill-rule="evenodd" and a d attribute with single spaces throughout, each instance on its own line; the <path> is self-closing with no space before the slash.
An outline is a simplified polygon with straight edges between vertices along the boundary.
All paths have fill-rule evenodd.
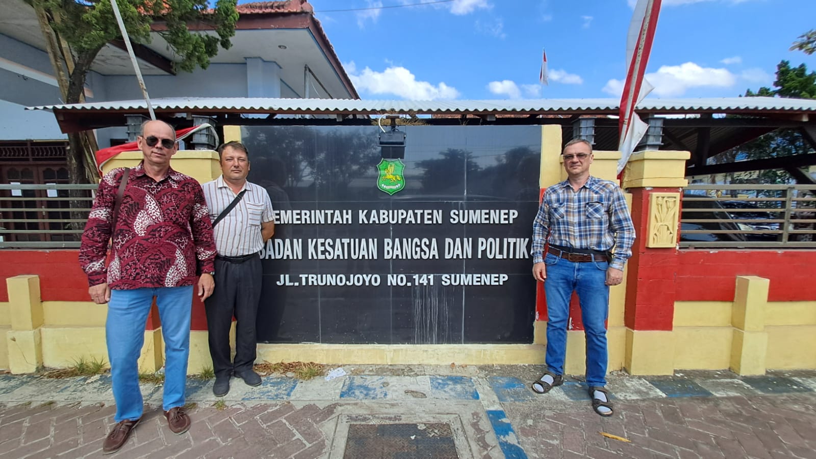
<path id="1" fill-rule="evenodd" d="M 646 74 L 646 79 L 654 86 L 652 94 L 660 97 L 682 96 L 694 87 L 732 87 L 737 78 L 727 69 L 700 67 L 694 62 L 681 65 L 663 65 L 657 72 Z M 603 91 L 612 96 L 623 94 L 623 81 L 610 79 Z"/>

